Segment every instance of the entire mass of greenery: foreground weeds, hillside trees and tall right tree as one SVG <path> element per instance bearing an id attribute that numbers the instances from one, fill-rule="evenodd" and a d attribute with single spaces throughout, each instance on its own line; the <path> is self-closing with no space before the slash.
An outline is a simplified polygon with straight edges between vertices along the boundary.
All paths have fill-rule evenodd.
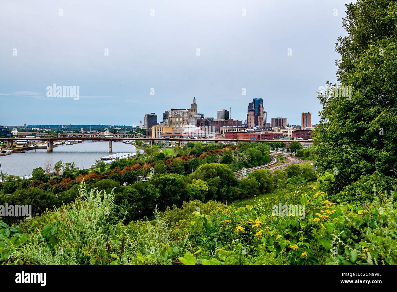
<path id="1" fill-rule="evenodd" d="M 0 263 L 397 264 L 396 12 L 391 0 L 347 5 L 337 65 L 351 97 L 319 95 L 314 147 L 289 149 L 315 172 L 292 164 L 239 181 L 233 172 L 279 145 L 190 143 L 91 173 L 6 176 L 0 204 L 36 216 L 1 219 Z"/>

